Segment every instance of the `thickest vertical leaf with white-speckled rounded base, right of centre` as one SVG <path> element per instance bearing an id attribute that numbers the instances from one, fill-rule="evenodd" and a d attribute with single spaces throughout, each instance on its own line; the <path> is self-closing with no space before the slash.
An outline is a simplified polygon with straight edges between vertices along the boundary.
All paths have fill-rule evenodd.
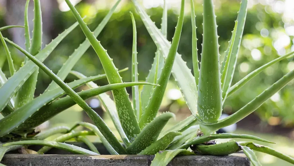
<path id="1" fill-rule="evenodd" d="M 213 1 L 203 1 L 203 44 L 197 109 L 199 116 L 204 122 L 218 120 L 223 110 L 219 72 L 219 45 L 216 27 Z"/>

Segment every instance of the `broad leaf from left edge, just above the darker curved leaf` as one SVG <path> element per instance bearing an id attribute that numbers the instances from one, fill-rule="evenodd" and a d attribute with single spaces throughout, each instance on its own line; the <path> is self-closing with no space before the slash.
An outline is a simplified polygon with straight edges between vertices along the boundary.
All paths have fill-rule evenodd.
<path id="1" fill-rule="evenodd" d="M 105 75 L 104 75 L 104 77 L 105 77 Z M 75 89 L 75 88 L 85 84 L 86 82 L 93 81 L 93 80 L 96 80 L 99 78 L 103 78 L 103 75 L 80 79 L 80 80 L 69 83 L 68 86 Z M 43 107 L 44 105 L 46 105 L 49 102 L 52 102 L 54 99 L 62 96 L 63 94 L 65 94 L 65 92 L 61 88 L 57 88 L 53 91 L 49 91 L 45 94 L 42 94 L 42 95 L 36 97 L 35 99 L 28 102 L 24 106 L 20 107 L 16 111 L 12 112 L 11 114 L 6 116 L 5 118 L 1 119 L 0 120 L 0 128 L 1 128 L 0 136 L 8 134 L 9 132 L 15 130 L 16 128 L 19 128 L 19 129 L 29 128 L 29 126 L 27 126 L 27 124 L 24 123 L 26 121 L 26 119 L 31 117 L 41 107 Z M 43 114 L 44 114 L 44 112 L 43 112 Z M 42 117 L 42 115 L 40 117 Z M 40 120 L 39 119 L 40 117 L 37 117 L 36 119 Z M 45 122 L 45 121 L 42 121 L 41 123 L 43 123 L 43 122 Z M 30 127 L 32 127 L 32 126 L 30 126 Z M 33 126 L 33 127 L 36 127 L 36 126 Z"/>

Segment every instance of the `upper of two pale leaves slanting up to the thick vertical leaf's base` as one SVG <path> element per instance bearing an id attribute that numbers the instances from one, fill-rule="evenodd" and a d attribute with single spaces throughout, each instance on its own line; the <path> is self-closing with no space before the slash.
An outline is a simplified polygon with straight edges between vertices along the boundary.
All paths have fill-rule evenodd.
<path id="1" fill-rule="evenodd" d="M 158 139 L 160 139 L 161 137 L 163 137 L 164 135 L 166 135 L 169 132 L 173 132 L 173 131 L 183 132 L 186 129 L 188 129 L 189 127 L 195 125 L 196 123 L 197 123 L 197 119 L 193 115 L 190 115 L 189 117 L 182 120 L 181 122 L 178 122 L 176 125 L 174 125 L 170 129 L 165 130 L 162 133 L 160 133 L 160 135 L 158 136 Z"/>

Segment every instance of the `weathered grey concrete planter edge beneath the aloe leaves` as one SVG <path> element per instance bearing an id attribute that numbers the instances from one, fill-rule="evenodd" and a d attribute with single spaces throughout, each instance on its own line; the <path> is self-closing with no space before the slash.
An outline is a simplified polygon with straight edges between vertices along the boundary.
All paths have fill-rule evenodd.
<path id="1" fill-rule="evenodd" d="M 83 143 L 73 144 L 87 149 Z M 154 158 L 154 155 L 109 155 L 101 143 L 96 143 L 96 147 L 101 155 L 71 155 L 53 148 L 47 155 L 6 154 L 1 163 L 7 166 L 148 166 Z M 40 146 L 31 146 L 30 149 L 39 148 Z M 234 153 L 228 156 L 178 156 L 168 165 L 250 166 L 250 162 L 243 153 Z"/>

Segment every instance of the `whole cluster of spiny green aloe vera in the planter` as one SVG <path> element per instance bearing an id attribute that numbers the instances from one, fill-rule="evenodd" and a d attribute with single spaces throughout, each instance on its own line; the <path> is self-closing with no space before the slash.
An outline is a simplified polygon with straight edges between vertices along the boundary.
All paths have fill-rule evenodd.
<path id="1" fill-rule="evenodd" d="M 65 0 L 77 23 L 64 31 L 44 49 L 41 49 L 40 45 L 40 27 L 42 23 L 39 0 L 34 1 L 36 10 L 34 12 L 36 18 L 34 29 L 36 30 L 34 30 L 31 43 L 29 33 L 27 32 L 29 29 L 27 21 L 24 24 L 26 28 L 26 49 L 22 49 L 13 41 L 0 36 L 3 44 L 6 44 L 6 42 L 11 44 L 27 57 L 24 66 L 18 71 L 14 71 L 11 66 L 11 77 L 9 79 L 0 70 L 0 112 L 4 115 L 4 118 L 0 119 L 0 139 L 1 142 L 4 142 L 1 144 L 2 147 L 0 147 L 0 159 L 7 151 L 20 148 L 22 145 L 45 146 L 38 151 L 39 153 L 45 153 L 50 147 L 56 147 L 77 154 L 99 155 L 98 150 L 86 138 L 86 135 L 96 135 L 112 155 L 155 155 L 151 165 L 165 166 L 176 155 L 229 155 L 240 150 L 243 150 L 253 165 L 260 165 L 253 151 L 264 152 L 294 164 L 293 158 L 253 142 L 228 141 L 216 144 L 214 141 L 215 139 L 243 138 L 274 143 L 252 135 L 236 135 L 232 133 L 215 134 L 215 132 L 220 128 L 240 121 L 255 111 L 263 102 L 294 79 L 294 71 L 291 71 L 239 111 L 225 119 L 219 120 L 223 103 L 229 95 L 233 94 L 270 65 L 293 54 L 287 54 L 263 65 L 231 86 L 247 14 L 248 0 L 242 0 L 241 2 L 238 18 L 232 32 L 232 38 L 225 52 L 224 61 L 221 64 L 219 63 L 220 54 L 218 50 L 218 34 L 213 1 L 203 1 L 203 48 L 201 62 L 199 63 L 197 57 L 194 2 L 190 0 L 193 30 L 192 61 L 195 77 L 193 77 L 191 70 L 188 69 L 186 63 L 177 53 L 184 20 L 185 0 L 181 0 L 178 23 L 171 43 L 166 39 L 167 1 L 164 1 L 161 30 L 155 26 L 138 2 L 136 0 L 132 1 L 157 46 L 154 62 L 145 82 L 138 82 L 137 56 L 140 54 L 137 53 L 137 30 L 132 13 L 130 19 L 133 24 L 131 68 L 133 82 L 122 82 L 119 74 L 121 71 L 115 67 L 111 56 L 108 55 L 100 41 L 96 39 L 120 0 L 117 1 L 94 32 L 88 28 L 71 2 Z M 29 0 L 27 0 L 27 4 L 28 2 Z M 28 5 L 26 5 L 25 20 L 27 20 L 27 7 Z M 42 62 L 49 56 L 57 44 L 78 24 L 87 39 L 69 57 L 60 71 L 54 74 Z M 3 27 L 2 30 L 13 27 L 15 26 Z M 71 71 L 74 64 L 78 62 L 78 59 L 90 46 L 97 53 L 105 74 L 86 77 L 79 72 Z M 23 102 L 20 102 L 20 98 L 17 98 L 16 102 L 18 104 L 15 106 L 14 94 L 17 93 L 19 96 L 26 96 L 32 93 L 32 90 L 24 87 L 26 85 L 35 85 L 34 82 L 36 79 L 33 77 L 34 74 L 38 73 L 38 69 L 43 70 L 53 82 L 51 82 L 49 87 L 39 97 L 34 99 L 28 98 Z M 64 83 L 64 79 L 69 73 L 78 77 L 78 80 L 68 84 Z M 175 115 L 171 112 L 165 112 L 157 116 L 171 74 L 175 77 L 193 115 L 179 122 L 173 128 L 162 131 L 168 120 L 175 118 Z M 93 82 L 104 77 L 108 79 L 109 85 L 99 87 Z M 83 84 L 86 84 L 90 89 L 78 93 L 73 90 Z M 144 85 L 142 92 L 140 92 L 138 85 Z M 132 86 L 133 104 L 125 89 L 128 86 Z M 30 89 L 34 88 L 30 87 Z M 104 93 L 106 91 L 112 91 L 114 100 Z M 68 96 L 61 98 L 64 94 Z M 86 104 L 84 100 L 90 97 L 97 97 L 101 101 L 104 109 L 110 115 L 123 144 L 121 144 L 119 138 L 113 135 L 113 132 L 103 119 Z M 78 122 L 71 129 L 68 127 L 57 127 L 39 134 L 34 133 L 35 127 L 74 104 L 78 104 L 83 108 L 94 124 Z M 75 131 L 78 126 L 87 128 L 90 131 Z M 55 132 L 62 133 L 63 135 L 51 141 L 44 140 L 55 134 Z M 2 141 L 4 137 L 8 137 L 9 139 Z M 62 143 L 68 139 L 85 142 L 91 150 Z M 188 150 L 188 148 L 191 148 L 193 152 Z"/>

